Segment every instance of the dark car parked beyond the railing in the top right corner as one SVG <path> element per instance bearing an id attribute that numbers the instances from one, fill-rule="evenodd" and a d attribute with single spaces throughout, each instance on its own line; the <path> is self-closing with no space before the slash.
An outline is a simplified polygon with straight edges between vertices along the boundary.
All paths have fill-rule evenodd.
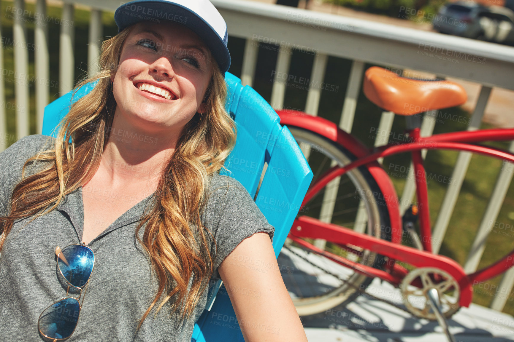
<path id="1" fill-rule="evenodd" d="M 471 2 L 446 4 L 432 20 L 434 30 L 502 44 L 514 44 L 514 11 Z"/>

